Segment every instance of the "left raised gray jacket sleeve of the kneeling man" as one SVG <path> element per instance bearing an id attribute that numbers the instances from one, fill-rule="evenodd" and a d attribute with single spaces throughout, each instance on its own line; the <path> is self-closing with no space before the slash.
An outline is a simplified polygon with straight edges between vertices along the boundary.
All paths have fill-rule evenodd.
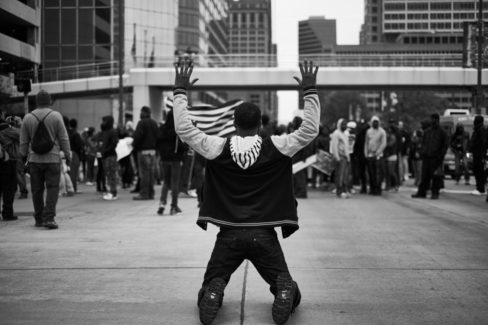
<path id="1" fill-rule="evenodd" d="M 205 134 L 191 122 L 188 113 L 186 90 L 182 87 L 173 89 L 173 114 L 175 130 L 178 136 L 206 159 L 215 159 L 224 149 L 227 139 Z"/>

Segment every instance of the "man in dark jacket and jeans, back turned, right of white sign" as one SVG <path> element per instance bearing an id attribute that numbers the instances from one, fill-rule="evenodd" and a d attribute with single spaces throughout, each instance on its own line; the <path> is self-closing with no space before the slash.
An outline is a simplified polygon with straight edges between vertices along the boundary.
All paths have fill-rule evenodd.
<path id="1" fill-rule="evenodd" d="M 154 199 L 154 181 L 156 170 L 156 141 L 158 139 L 158 123 L 151 119 L 151 109 L 141 108 L 141 120 L 134 131 L 132 146 L 137 152 L 139 167 L 139 195 L 133 200 Z"/>

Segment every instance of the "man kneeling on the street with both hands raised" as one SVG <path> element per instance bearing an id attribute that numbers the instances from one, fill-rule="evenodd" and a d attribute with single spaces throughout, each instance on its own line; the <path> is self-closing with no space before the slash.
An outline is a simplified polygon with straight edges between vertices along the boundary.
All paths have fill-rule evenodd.
<path id="1" fill-rule="evenodd" d="M 207 222 L 221 227 L 198 294 L 200 321 L 210 324 L 215 319 L 225 285 L 244 259 L 248 259 L 275 296 L 273 320 L 284 324 L 300 303 L 301 294 L 272 228 L 281 226 L 284 238 L 298 229 L 291 157 L 318 134 L 318 67 L 312 72 L 312 61 L 309 69 L 305 60 L 305 68 L 300 63 L 303 79 L 294 77 L 304 88 L 305 100 L 304 121 L 298 130 L 262 139 L 258 136 L 261 111 L 244 102 L 234 112 L 237 135 L 226 139 L 205 135 L 193 126 L 186 108 L 186 88 L 198 79 L 190 82 L 193 65 L 188 68 L 189 61 L 183 63 L 180 70 L 175 67 L 176 132 L 207 159 L 197 223 L 203 229 Z"/>

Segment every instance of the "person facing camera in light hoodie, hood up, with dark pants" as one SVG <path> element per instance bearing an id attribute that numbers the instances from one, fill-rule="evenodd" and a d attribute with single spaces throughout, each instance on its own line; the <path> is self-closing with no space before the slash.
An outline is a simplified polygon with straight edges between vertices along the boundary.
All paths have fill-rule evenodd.
<path id="1" fill-rule="evenodd" d="M 383 151 L 386 147 L 386 132 L 380 126 L 380 119 L 375 115 L 371 118 L 371 127 L 366 131 L 365 156 L 368 161 L 369 194 L 381 195 L 383 179 Z"/>

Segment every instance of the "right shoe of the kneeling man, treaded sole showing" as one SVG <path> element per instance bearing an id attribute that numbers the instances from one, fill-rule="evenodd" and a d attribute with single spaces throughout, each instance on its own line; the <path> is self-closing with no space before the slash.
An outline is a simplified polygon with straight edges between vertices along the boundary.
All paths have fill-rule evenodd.
<path id="1" fill-rule="evenodd" d="M 295 307 L 300 304 L 300 292 L 289 273 L 281 273 L 276 279 L 276 296 L 271 309 L 273 321 L 276 324 L 285 324 Z"/>

